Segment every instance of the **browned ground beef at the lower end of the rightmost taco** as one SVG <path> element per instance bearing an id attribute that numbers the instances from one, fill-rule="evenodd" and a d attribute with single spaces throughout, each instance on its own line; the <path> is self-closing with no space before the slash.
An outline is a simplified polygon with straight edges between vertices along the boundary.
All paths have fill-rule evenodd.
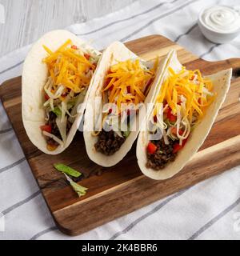
<path id="1" fill-rule="evenodd" d="M 176 142 L 169 140 L 169 145 L 166 145 L 164 139 L 158 141 L 152 141 L 157 146 L 157 150 L 154 154 L 147 154 L 146 167 L 154 170 L 163 169 L 168 162 L 173 162 L 176 158 L 177 153 L 174 153 L 174 144 Z"/>

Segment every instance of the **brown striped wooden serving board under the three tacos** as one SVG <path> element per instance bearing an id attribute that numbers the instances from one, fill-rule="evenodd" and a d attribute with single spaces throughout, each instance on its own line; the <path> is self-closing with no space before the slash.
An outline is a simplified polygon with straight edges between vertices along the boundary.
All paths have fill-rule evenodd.
<path id="1" fill-rule="evenodd" d="M 212 74 L 232 67 L 235 77 L 206 142 L 180 173 L 165 181 L 142 175 L 135 144 L 118 165 L 110 168 L 90 161 L 80 132 L 62 154 L 43 154 L 30 142 L 22 126 L 21 77 L 4 82 L 0 86 L 3 106 L 54 221 L 65 234 L 81 234 L 240 164 L 240 78 L 236 78 L 240 74 L 240 59 L 206 62 L 160 35 L 127 42 L 126 46 L 146 60 L 163 56 L 174 48 L 188 69 L 198 68 L 203 74 Z M 54 170 L 53 164 L 57 162 L 83 173 L 79 183 L 89 188 L 86 196 L 78 198 L 65 177 Z"/>

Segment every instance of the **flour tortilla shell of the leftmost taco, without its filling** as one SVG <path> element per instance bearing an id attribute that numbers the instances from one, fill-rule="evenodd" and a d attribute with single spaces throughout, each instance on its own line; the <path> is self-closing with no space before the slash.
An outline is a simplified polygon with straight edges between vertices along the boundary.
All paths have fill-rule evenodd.
<path id="1" fill-rule="evenodd" d="M 37 146 L 39 150 L 46 154 L 59 154 L 65 150 L 74 138 L 74 134 L 78 130 L 78 126 L 82 120 L 83 112 L 86 107 L 86 101 L 91 90 L 92 82 L 87 90 L 82 105 L 78 108 L 78 116 L 74 119 L 74 123 L 66 137 L 66 142 L 62 146 L 58 146 L 56 150 L 50 151 L 46 148 L 46 138 L 42 135 L 40 126 L 45 124 L 45 110 L 43 107 L 42 89 L 48 78 L 48 70 L 46 63 L 42 62 L 46 58 L 46 50 L 42 45 L 46 45 L 50 50 L 57 50 L 67 39 L 71 39 L 74 45 L 82 50 L 90 50 L 96 54 L 100 54 L 94 48 L 87 46 L 85 42 L 76 37 L 74 34 L 66 30 L 54 30 L 42 36 L 27 55 L 22 71 L 22 122 L 26 130 L 26 134 L 30 141 Z M 98 67 L 97 67 L 98 69 Z"/>

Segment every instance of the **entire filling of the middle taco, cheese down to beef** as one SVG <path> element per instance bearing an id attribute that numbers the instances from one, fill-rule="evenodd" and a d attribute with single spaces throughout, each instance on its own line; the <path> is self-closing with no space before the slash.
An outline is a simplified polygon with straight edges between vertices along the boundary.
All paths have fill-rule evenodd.
<path id="1" fill-rule="evenodd" d="M 131 119 L 138 113 L 138 103 L 145 101 L 157 66 L 158 59 L 149 68 L 138 58 L 110 66 L 102 88 L 102 103 L 111 104 L 102 108 L 103 130 L 94 132 L 98 136 L 95 143 L 98 152 L 114 154 L 125 142 L 130 134 Z"/>

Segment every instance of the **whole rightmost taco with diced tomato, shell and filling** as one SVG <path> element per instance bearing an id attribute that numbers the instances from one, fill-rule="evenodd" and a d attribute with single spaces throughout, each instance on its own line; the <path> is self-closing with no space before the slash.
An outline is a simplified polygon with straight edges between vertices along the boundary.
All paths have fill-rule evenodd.
<path id="1" fill-rule="evenodd" d="M 174 51 L 151 99 L 146 130 L 138 136 L 143 174 L 166 179 L 182 170 L 209 134 L 229 90 L 231 72 L 202 77 L 199 70 L 186 70 Z"/>

